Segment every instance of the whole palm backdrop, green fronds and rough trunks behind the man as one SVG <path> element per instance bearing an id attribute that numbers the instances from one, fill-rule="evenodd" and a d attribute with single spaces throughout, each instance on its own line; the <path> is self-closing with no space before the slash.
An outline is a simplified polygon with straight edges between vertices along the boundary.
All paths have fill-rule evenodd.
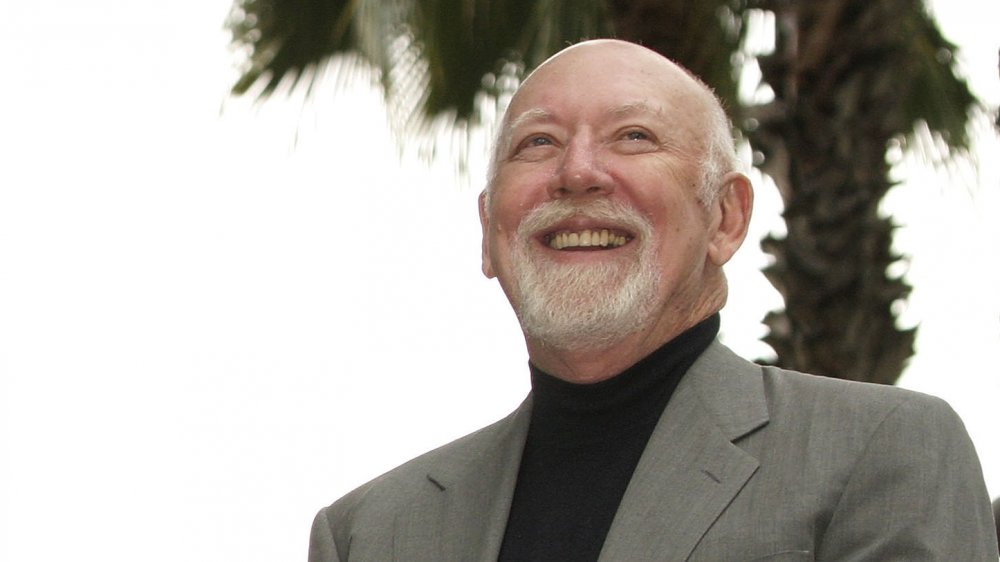
<path id="1" fill-rule="evenodd" d="M 777 22 L 762 105 L 737 96 L 751 14 Z M 878 213 L 886 152 L 919 126 L 964 149 L 975 105 L 919 0 L 236 0 L 229 27 L 248 53 L 234 93 L 260 84 L 267 96 L 354 53 L 390 94 L 420 93 L 417 121 L 474 117 L 481 92 L 501 93 L 498 76 L 582 38 L 644 44 L 715 88 L 782 194 L 788 234 L 762 243 L 785 299 L 765 319 L 776 363 L 892 383 L 913 353 L 893 308 L 909 286 L 887 274 L 899 258 Z"/>

